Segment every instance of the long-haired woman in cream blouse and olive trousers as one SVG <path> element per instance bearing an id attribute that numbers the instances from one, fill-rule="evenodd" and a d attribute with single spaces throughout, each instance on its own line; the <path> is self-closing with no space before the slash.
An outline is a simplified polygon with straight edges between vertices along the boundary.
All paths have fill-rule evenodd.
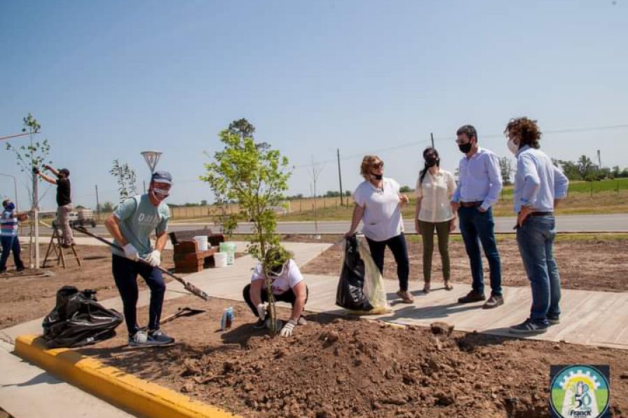
<path id="1" fill-rule="evenodd" d="M 430 291 L 432 273 L 432 253 L 434 251 L 434 229 L 438 235 L 438 251 L 442 261 L 444 288 L 451 291 L 449 282 L 449 233 L 456 229 L 456 215 L 451 210 L 451 194 L 456 189 L 454 176 L 440 169 L 440 157 L 434 148 L 423 151 L 425 167 L 417 180 L 417 208 L 414 227 L 423 237 L 423 291 Z"/>

